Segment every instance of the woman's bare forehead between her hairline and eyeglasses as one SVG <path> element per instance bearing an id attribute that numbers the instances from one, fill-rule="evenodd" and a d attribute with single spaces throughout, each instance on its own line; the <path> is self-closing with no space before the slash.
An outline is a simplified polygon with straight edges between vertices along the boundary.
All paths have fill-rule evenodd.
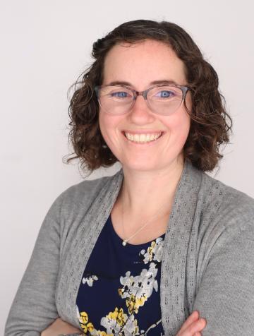
<path id="1" fill-rule="evenodd" d="M 183 61 L 169 45 L 155 40 L 114 45 L 104 60 L 103 77 L 103 84 L 128 81 L 136 90 L 143 90 L 154 80 L 186 84 Z"/>

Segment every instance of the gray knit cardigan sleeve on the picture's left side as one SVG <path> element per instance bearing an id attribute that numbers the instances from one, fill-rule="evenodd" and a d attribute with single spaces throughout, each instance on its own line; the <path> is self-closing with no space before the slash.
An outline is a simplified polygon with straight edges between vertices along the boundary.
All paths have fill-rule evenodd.
<path id="1" fill-rule="evenodd" d="M 63 193 L 47 212 L 6 320 L 5 336 L 40 336 L 58 318 L 60 213 Z"/>

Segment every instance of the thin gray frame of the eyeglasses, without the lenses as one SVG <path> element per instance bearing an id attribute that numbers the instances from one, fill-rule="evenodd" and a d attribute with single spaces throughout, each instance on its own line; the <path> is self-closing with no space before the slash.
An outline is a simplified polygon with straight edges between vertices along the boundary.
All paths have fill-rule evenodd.
<path id="1" fill-rule="evenodd" d="M 103 109 L 102 104 L 101 104 L 100 99 L 99 99 L 99 90 L 100 90 L 101 88 L 105 88 L 105 87 L 107 87 L 107 86 L 114 86 L 114 87 L 116 87 L 116 88 L 126 88 L 126 89 L 128 89 L 128 90 L 131 90 L 131 92 L 133 92 L 133 102 L 131 103 L 131 106 L 127 109 L 126 112 L 124 112 L 124 113 L 120 113 L 120 114 L 114 114 L 114 113 L 107 112 L 105 109 Z M 169 85 L 167 85 L 167 84 L 158 84 L 158 85 L 151 86 L 151 87 L 148 88 L 147 90 L 144 90 L 144 91 L 137 91 L 137 90 L 133 90 L 132 88 L 129 88 L 127 85 L 120 85 L 120 84 L 119 84 L 119 85 L 110 85 L 110 84 L 107 84 L 107 85 L 96 85 L 94 89 L 95 89 L 95 93 L 96 93 L 96 96 L 97 96 L 97 100 L 98 100 L 98 102 L 99 102 L 99 106 L 104 110 L 104 112 L 106 112 L 106 113 L 108 113 L 108 114 L 111 114 L 111 115 L 113 115 L 113 116 L 114 116 L 114 115 L 122 115 L 122 114 L 126 114 L 126 113 L 130 112 L 131 109 L 133 108 L 133 105 L 135 104 L 135 100 L 136 100 L 137 97 L 140 96 L 140 95 L 144 97 L 144 100 L 146 101 L 147 106 L 149 107 L 150 111 L 152 111 L 152 112 L 155 113 L 155 114 L 162 115 L 162 116 L 168 116 L 168 115 L 170 115 L 170 114 L 174 114 L 174 112 L 176 112 L 176 111 L 171 112 L 171 113 L 169 113 L 169 114 L 161 114 L 161 113 L 158 113 L 158 112 L 156 112 L 156 111 L 153 111 L 152 107 L 150 107 L 150 104 L 149 104 L 149 102 L 148 102 L 148 100 L 147 100 L 147 93 L 148 93 L 150 90 L 152 90 L 152 89 L 154 89 L 154 88 L 161 88 L 161 87 L 164 87 L 164 86 L 172 86 L 173 88 L 179 88 L 179 89 L 181 90 L 181 92 L 182 92 L 182 100 L 181 100 L 181 104 L 180 104 L 179 107 L 176 109 L 176 111 L 177 111 L 177 110 L 181 107 L 181 105 L 183 104 L 183 102 L 185 103 L 185 101 L 186 101 L 186 94 L 187 94 L 187 92 L 188 92 L 189 90 L 191 90 L 191 88 L 189 88 L 189 87 L 186 86 L 186 85 L 176 85 L 176 84 L 169 84 Z"/>

